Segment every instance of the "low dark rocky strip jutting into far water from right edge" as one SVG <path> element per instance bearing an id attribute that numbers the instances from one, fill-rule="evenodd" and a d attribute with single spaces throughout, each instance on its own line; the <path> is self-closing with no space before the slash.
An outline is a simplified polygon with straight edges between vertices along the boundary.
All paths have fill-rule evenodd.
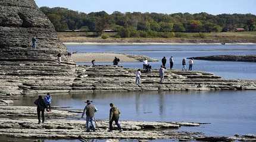
<path id="1" fill-rule="evenodd" d="M 195 60 L 256 62 L 256 55 L 220 55 L 220 56 L 190 57 L 189 59 L 191 58 Z"/>

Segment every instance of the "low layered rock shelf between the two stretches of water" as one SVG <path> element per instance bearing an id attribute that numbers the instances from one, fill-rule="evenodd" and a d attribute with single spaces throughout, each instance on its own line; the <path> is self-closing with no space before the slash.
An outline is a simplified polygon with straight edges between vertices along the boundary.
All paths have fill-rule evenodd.
<path id="1" fill-rule="evenodd" d="M 202 91 L 202 90 L 248 90 L 256 89 L 255 80 L 226 80 L 205 72 L 167 70 L 164 83 L 160 82 L 158 70 L 142 72 L 141 85 L 135 84 L 137 69 L 117 66 L 80 66 L 78 78 L 71 91 Z"/>

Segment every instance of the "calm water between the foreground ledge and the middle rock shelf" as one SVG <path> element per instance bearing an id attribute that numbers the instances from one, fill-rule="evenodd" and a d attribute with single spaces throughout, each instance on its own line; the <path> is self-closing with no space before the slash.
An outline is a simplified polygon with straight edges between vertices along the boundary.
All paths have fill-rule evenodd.
<path id="1" fill-rule="evenodd" d="M 36 98 L 22 98 L 15 105 L 34 106 Z M 99 111 L 95 118 L 108 120 L 110 102 L 121 111 L 121 120 L 203 122 L 182 127 L 207 135 L 255 134 L 255 91 L 104 92 L 54 95 L 52 105 L 83 109 L 86 99 Z"/>

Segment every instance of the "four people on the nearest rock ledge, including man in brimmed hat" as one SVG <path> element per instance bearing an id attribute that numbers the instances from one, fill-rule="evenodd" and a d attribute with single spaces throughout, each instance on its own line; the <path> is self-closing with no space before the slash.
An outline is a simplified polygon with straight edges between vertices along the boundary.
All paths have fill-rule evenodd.
<path id="1" fill-rule="evenodd" d="M 45 110 L 47 112 L 51 112 L 51 102 L 52 102 L 52 96 L 50 93 L 47 93 L 45 98 L 43 99 L 41 95 L 38 96 L 38 99 L 34 102 L 34 104 L 37 106 L 37 112 L 38 112 L 38 124 L 40 124 L 40 114 L 42 114 L 42 123 L 45 122 Z M 86 115 L 86 131 L 90 132 L 96 131 L 96 120 L 95 120 L 95 112 L 98 111 L 98 109 L 95 107 L 95 105 L 92 104 L 92 101 L 87 100 L 86 101 L 85 109 L 83 109 L 83 118 Z M 121 132 L 123 129 L 121 128 L 121 125 L 119 123 L 119 117 L 121 112 L 119 109 L 113 104 L 110 103 L 110 127 L 108 131 L 113 131 L 113 122 L 115 122 L 115 125 L 117 125 L 118 130 Z M 91 125 L 91 127 L 90 127 Z"/>

